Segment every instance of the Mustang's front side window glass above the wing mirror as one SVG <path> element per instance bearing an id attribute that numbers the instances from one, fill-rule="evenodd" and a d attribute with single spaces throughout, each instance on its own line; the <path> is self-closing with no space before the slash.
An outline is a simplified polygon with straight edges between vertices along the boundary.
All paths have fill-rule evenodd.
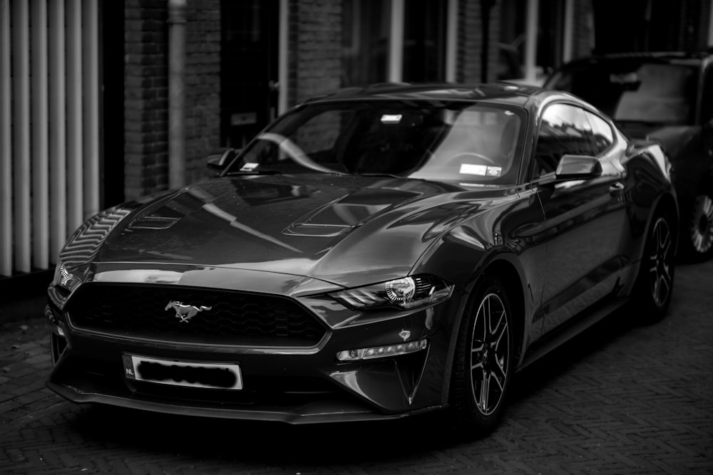
<path id="1" fill-rule="evenodd" d="M 592 127 L 584 110 L 568 104 L 553 104 L 545 109 L 540 122 L 533 178 L 555 172 L 565 154 L 597 155 Z"/>

